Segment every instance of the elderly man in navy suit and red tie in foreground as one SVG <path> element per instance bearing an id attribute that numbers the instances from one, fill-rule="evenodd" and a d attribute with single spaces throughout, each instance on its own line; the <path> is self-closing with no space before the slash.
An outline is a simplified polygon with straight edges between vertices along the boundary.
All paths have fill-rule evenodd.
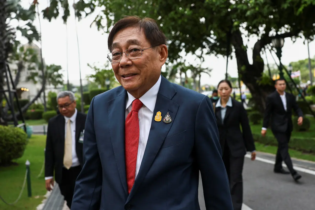
<path id="1" fill-rule="evenodd" d="M 107 58 L 120 87 L 95 96 L 72 209 L 232 210 L 212 102 L 161 76 L 166 37 L 150 18 L 119 20 Z"/>

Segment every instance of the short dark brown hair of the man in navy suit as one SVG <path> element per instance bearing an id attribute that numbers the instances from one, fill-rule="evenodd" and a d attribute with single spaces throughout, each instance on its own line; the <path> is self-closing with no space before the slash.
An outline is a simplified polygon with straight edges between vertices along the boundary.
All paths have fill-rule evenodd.
<path id="1" fill-rule="evenodd" d="M 108 49 L 112 52 L 112 44 L 114 36 L 120 30 L 123 30 L 129 26 L 139 27 L 139 30 L 143 30 L 146 39 L 150 42 L 152 46 L 157 46 L 161 44 L 166 45 L 166 37 L 164 33 L 158 28 L 157 23 L 152 18 L 140 18 L 138 16 L 125 16 L 115 23 L 111 32 L 108 35 Z"/>

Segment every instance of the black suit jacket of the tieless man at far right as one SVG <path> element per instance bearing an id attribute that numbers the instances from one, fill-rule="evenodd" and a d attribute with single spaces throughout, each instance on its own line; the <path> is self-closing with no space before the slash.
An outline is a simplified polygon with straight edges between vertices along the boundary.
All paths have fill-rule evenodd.
<path id="1" fill-rule="evenodd" d="M 287 101 L 287 111 L 285 111 L 280 94 L 277 91 L 269 94 L 266 98 L 266 110 L 264 115 L 263 128 L 269 127 L 271 118 L 271 129 L 273 132 L 286 132 L 293 130 L 292 124 L 292 109 L 298 116 L 303 116 L 303 113 L 296 103 L 295 96 L 290 93 L 285 93 Z"/>

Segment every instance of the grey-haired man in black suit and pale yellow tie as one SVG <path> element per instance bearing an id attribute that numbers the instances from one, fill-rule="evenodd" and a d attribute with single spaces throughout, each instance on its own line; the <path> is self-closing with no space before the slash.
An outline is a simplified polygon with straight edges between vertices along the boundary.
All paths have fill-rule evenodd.
<path id="1" fill-rule="evenodd" d="M 83 166 L 83 133 L 86 114 L 76 109 L 76 101 L 71 91 L 60 92 L 57 96 L 60 114 L 48 122 L 45 180 L 50 191 L 55 180 L 61 194 L 71 208 L 75 181 Z M 55 172 L 55 174 L 54 174 Z"/>

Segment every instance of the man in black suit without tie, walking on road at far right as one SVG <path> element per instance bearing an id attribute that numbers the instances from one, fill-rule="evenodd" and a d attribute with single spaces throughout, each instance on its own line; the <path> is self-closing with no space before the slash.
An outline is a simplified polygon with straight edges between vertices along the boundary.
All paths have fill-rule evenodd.
<path id="1" fill-rule="evenodd" d="M 286 83 L 284 79 L 279 79 L 275 82 L 276 91 L 268 95 L 266 98 L 266 110 L 264 115 L 263 128 L 261 135 L 266 136 L 271 118 L 271 130 L 278 141 L 278 151 L 274 166 L 275 173 L 289 174 L 297 181 L 301 179 L 301 175 L 293 169 L 293 164 L 289 155 L 289 140 L 293 130 L 292 109 L 299 116 L 298 125 L 303 123 L 303 113 L 298 107 L 295 96 L 285 92 Z M 282 168 L 282 161 L 287 165 L 290 172 Z"/>

